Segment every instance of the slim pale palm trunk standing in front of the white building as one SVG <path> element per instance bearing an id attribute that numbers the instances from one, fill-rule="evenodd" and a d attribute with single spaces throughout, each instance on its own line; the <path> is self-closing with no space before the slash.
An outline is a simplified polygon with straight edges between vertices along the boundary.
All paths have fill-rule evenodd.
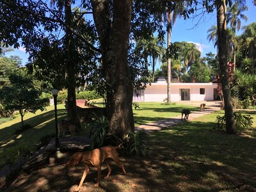
<path id="1" fill-rule="evenodd" d="M 172 35 L 172 11 L 168 8 L 168 27 L 167 27 L 167 47 L 171 45 L 171 35 Z M 172 82 L 172 61 L 168 58 L 167 61 L 167 102 L 172 102 L 171 100 L 171 82 Z"/>

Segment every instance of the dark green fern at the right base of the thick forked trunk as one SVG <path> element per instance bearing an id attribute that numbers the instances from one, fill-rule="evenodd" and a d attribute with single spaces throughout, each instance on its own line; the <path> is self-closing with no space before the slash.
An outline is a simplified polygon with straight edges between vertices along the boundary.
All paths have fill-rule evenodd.
<path id="1" fill-rule="evenodd" d="M 125 138 L 126 150 L 129 154 L 145 156 L 147 152 L 148 134 L 144 130 L 138 132 L 129 132 Z"/>

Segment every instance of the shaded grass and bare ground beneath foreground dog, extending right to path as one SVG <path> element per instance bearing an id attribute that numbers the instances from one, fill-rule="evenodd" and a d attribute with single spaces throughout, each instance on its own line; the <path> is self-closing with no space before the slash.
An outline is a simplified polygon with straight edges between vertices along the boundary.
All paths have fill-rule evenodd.
<path id="1" fill-rule="evenodd" d="M 101 186 L 94 188 L 97 169 L 92 168 L 81 191 L 239 191 L 245 185 L 256 188 L 255 132 L 230 135 L 214 130 L 217 115 L 223 115 L 223 111 L 150 134 L 147 156 L 120 154 L 127 175 L 120 175 L 122 170 L 112 166 L 110 179 L 105 181 L 107 170 L 103 166 Z M 255 127 L 256 115 L 252 116 Z M 63 164 L 45 166 L 21 175 L 6 191 L 72 191 L 83 170 L 83 164 L 70 169 Z"/>

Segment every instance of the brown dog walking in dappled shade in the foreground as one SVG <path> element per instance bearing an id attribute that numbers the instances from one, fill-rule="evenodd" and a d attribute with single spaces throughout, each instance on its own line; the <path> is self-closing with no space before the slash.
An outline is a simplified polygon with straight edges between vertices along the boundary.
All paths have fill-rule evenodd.
<path id="1" fill-rule="evenodd" d="M 100 184 L 100 173 L 101 173 L 101 164 L 106 163 L 108 166 L 108 175 L 104 177 L 104 179 L 108 179 L 111 168 L 109 166 L 109 160 L 113 159 L 115 163 L 122 168 L 123 172 L 125 172 L 124 165 L 120 163 L 118 158 L 118 153 L 116 152 L 116 148 L 120 148 L 122 144 L 118 145 L 117 147 L 112 146 L 106 146 L 106 147 L 100 147 L 95 148 L 93 150 L 90 150 L 88 152 L 77 152 L 72 155 L 71 159 L 68 161 L 67 166 L 73 166 L 75 164 L 84 163 L 85 169 L 83 173 L 83 177 L 79 183 L 79 186 L 76 188 L 75 191 L 79 191 L 81 186 L 83 185 L 84 179 L 89 172 L 89 166 L 96 166 L 98 170 L 98 177 L 97 177 L 97 184 L 94 186 L 97 187 Z"/>

